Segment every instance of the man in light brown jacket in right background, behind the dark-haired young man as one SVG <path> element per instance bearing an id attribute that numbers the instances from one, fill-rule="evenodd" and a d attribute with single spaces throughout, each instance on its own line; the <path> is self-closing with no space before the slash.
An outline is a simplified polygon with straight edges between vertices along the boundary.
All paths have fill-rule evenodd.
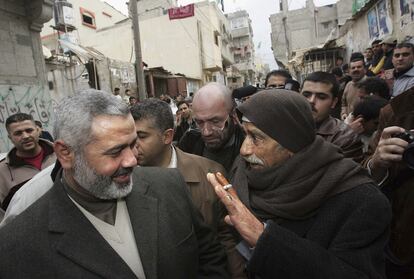
<path id="1" fill-rule="evenodd" d="M 357 97 L 356 83 L 366 78 L 366 69 L 364 63 L 364 56 L 362 53 L 353 53 L 351 55 L 351 62 L 349 63 L 349 75 L 352 80 L 347 83 L 342 95 L 341 119 L 344 120 L 353 110 Z"/>

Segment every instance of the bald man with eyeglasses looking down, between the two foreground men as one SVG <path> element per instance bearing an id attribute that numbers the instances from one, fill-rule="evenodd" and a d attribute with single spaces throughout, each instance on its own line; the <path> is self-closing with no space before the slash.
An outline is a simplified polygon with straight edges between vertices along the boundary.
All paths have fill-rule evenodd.
<path id="1" fill-rule="evenodd" d="M 229 171 L 244 140 L 230 90 L 208 83 L 194 95 L 192 108 L 197 130 L 187 131 L 178 147 L 216 161 Z"/>

